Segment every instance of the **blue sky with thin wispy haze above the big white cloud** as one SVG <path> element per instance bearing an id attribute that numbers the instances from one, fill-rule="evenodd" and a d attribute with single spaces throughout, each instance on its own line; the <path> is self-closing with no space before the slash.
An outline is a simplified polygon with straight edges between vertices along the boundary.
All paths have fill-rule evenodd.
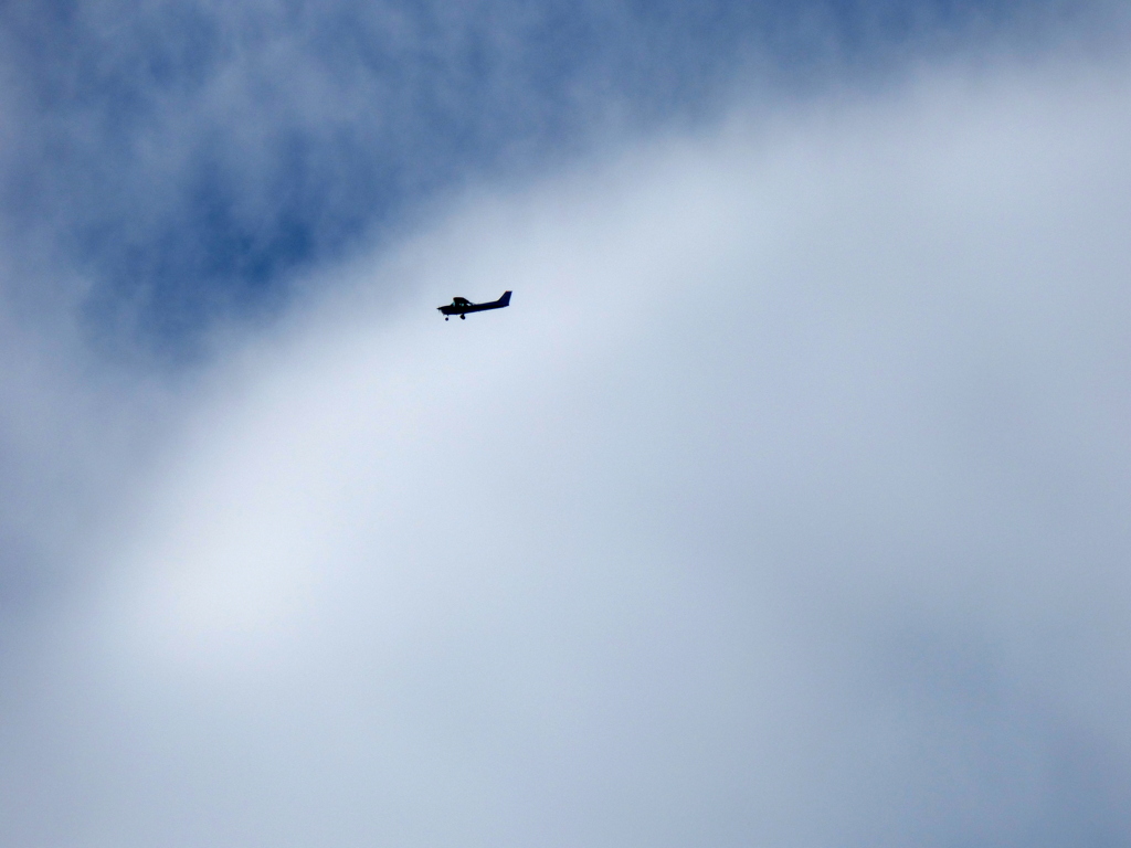
<path id="1" fill-rule="evenodd" d="M 103 348 L 180 355 L 468 180 L 716 114 L 754 81 L 824 88 L 972 45 L 1091 37 L 1108 6 L 12 2 L 0 226 L 9 252 L 88 282 Z"/>

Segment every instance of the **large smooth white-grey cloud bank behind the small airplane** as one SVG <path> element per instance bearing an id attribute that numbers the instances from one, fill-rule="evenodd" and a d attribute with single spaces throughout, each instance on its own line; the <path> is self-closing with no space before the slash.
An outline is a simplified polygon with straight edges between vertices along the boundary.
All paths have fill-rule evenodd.
<path id="1" fill-rule="evenodd" d="M 325 270 L 6 628 L 6 843 L 1126 843 L 1128 102 L 740 111 Z"/>

